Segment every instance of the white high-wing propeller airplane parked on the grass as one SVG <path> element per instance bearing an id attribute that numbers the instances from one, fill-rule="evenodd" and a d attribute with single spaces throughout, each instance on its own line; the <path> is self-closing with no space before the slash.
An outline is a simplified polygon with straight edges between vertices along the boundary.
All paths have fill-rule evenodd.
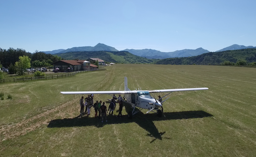
<path id="1" fill-rule="evenodd" d="M 61 92 L 62 94 L 124 94 L 127 102 L 132 106 L 133 111 L 128 113 L 128 117 L 131 119 L 133 115 L 141 111 L 142 109 L 148 109 L 146 113 L 154 112 L 157 113 L 159 117 L 162 116 L 162 103 L 163 101 L 159 101 L 159 99 L 155 99 L 151 97 L 150 93 L 158 93 L 158 92 L 169 92 L 162 98 L 168 96 L 172 92 L 177 91 L 195 91 L 195 90 L 208 90 L 208 88 L 184 88 L 184 89 L 161 89 L 161 90 L 133 90 L 131 91 L 127 87 L 127 77 L 125 77 L 125 90 L 124 91 L 81 91 L 81 92 Z M 160 99 L 162 99 L 160 98 Z M 135 108 L 138 107 L 138 110 L 135 111 Z M 165 115 L 164 115 L 165 116 Z"/>

